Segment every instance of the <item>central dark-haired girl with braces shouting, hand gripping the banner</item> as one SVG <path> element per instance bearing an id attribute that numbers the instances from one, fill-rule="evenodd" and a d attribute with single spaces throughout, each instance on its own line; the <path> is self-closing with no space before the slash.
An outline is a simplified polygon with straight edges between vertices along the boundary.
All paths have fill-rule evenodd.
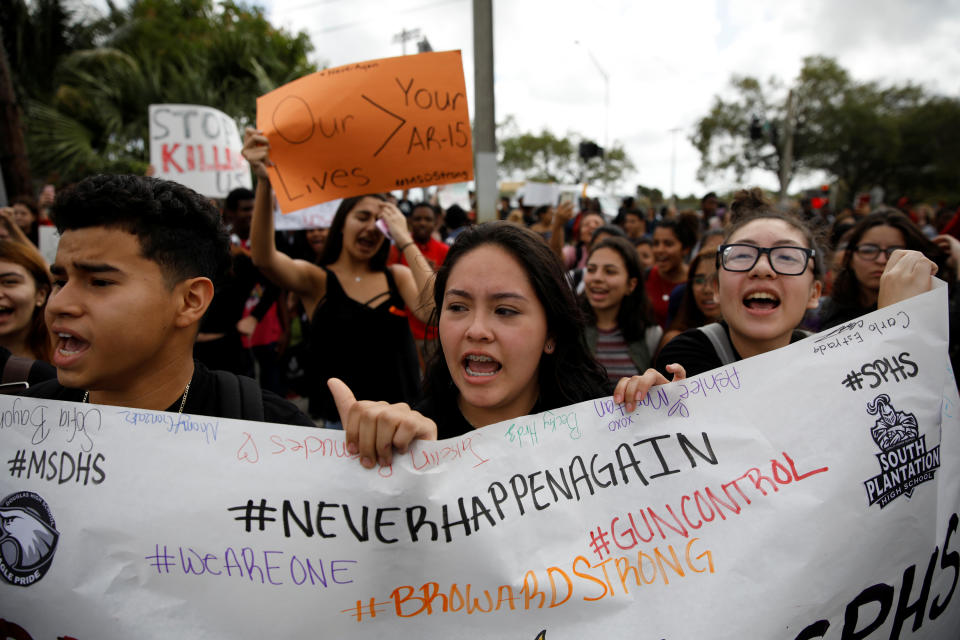
<path id="1" fill-rule="evenodd" d="M 609 393 L 561 265 L 529 229 L 494 222 L 465 231 L 437 272 L 433 299 L 439 344 L 416 409 L 358 402 L 348 385 L 329 383 L 347 450 L 364 466 L 390 464 L 392 449 L 415 438 L 454 437 Z"/>

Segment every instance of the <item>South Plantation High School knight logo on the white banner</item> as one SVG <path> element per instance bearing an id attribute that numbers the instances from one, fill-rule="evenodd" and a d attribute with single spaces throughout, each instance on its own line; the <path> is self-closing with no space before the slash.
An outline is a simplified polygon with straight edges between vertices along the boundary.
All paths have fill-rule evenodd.
<path id="1" fill-rule="evenodd" d="M 913 496 L 918 485 L 933 480 L 940 466 L 940 445 L 927 449 L 926 436 L 920 435 L 917 417 L 897 411 L 890 396 L 881 393 L 867 403 L 867 412 L 877 416 L 870 428 L 873 441 L 880 447 L 876 454 L 880 473 L 863 483 L 867 501 L 884 508 L 901 493 Z"/>

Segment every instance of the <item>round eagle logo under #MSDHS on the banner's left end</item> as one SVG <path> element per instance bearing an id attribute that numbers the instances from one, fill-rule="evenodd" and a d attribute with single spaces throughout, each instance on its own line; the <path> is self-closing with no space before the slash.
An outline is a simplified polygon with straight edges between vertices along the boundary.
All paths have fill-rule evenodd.
<path id="1" fill-rule="evenodd" d="M 50 569 L 60 534 L 50 507 L 32 491 L 0 500 L 0 577 L 29 587 Z"/>

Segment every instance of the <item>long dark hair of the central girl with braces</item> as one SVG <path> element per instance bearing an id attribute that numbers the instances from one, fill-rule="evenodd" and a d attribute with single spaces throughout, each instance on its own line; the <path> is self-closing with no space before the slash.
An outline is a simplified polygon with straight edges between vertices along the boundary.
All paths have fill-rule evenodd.
<path id="1" fill-rule="evenodd" d="M 556 409 L 609 394 L 606 373 L 593 358 L 584 338 L 583 314 L 567 284 L 563 266 L 543 238 L 524 227 L 502 221 L 488 222 L 470 227 L 457 237 L 437 271 L 433 285 L 436 306 L 430 324 L 434 328 L 439 324 L 450 273 L 461 258 L 485 245 L 503 249 L 520 263 L 543 306 L 547 333 L 556 347 L 553 353 L 540 356 L 537 381 L 541 408 Z M 482 278 L 483 274 L 476 274 L 476 277 Z M 424 388 L 426 394 L 437 402 L 457 397 L 439 338 L 427 366 Z"/>

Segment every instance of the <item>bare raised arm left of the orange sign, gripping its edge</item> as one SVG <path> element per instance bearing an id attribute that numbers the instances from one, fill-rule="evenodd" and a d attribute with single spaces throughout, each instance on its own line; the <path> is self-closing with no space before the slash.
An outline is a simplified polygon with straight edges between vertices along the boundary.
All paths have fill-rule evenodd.
<path id="1" fill-rule="evenodd" d="M 277 250 L 273 240 L 273 192 L 267 174 L 270 143 L 259 131 L 247 128 L 243 157 L 257 175 L 257 191 L 250 224 L 250 257 L 261 272 L 275 284 L 314 303 L 326 290 L 326 273 L 305 260 L 294 260 Z M 312 306 L 312 305 L 310 305 Z"/>

